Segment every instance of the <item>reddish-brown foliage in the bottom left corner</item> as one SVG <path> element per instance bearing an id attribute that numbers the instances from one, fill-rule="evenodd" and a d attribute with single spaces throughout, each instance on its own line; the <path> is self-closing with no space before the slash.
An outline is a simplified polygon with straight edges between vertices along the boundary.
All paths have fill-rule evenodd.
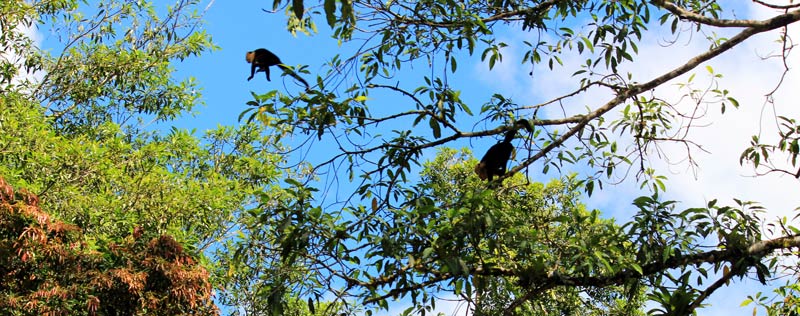
<path id="1" fill-rule="evenodd" d="M 4 315 L 217 315 L 208 277 L 168 235 L 98 243 L 0 178 Z"/>

